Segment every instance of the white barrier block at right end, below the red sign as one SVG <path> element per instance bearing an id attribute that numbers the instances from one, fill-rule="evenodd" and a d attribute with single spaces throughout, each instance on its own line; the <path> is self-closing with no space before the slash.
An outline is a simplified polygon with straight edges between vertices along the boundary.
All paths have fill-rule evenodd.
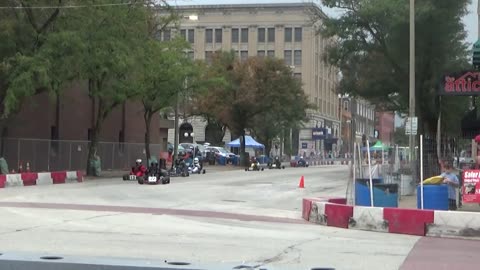
<path id="1" fill-rule="evenodd" d="M 435 211 L 433 224 L 427 225 L 427 236 L 480 237 L 480 213 Z"/>

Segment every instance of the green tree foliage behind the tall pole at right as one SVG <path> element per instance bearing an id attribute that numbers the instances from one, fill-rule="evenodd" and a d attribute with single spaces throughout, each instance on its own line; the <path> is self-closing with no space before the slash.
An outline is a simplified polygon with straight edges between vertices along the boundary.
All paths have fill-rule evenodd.
<path id="1" fill-rule="evenodd" d="M 338 8 L 337 18 L 317 13 L 321 32 L 333 38 L 325 55 L 342 72 L 340 91 L 386 109 L 406 112 L 409 81 L 409 2 L 404 0 L 322 0 Z M 442 100 L 442 75 L 468 67 L 462 17 L 468 0 L 416 1 L 416 114 L 420 132 L 434 134 L 440 110 L 446 125 L 459 123 L 467 98 Z M 455 113 L 452 113 L 455 112 Z M 450 132 L 458 131 L 455 129 Z"/>

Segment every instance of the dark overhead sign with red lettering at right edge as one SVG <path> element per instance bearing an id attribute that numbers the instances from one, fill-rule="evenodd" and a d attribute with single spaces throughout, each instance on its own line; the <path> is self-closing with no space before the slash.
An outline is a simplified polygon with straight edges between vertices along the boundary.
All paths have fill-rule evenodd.
<path id="1" fill-rule="evenodd" d="M 438 94 L 448 96 L 480 95 L 480 72 L 464 71 L 445 75 L 440 82 Z"/>

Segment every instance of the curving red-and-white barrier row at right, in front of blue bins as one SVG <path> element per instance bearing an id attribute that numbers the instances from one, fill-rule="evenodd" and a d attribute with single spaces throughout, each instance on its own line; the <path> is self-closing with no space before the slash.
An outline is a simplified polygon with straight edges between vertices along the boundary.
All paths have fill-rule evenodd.
<path id="1" fill-rule="evenodd" d="M 480 213 L 346 205 L 344 198 L 304 198 L 306 221 L 344 229 L 417 236 L 480 237 Z"/>

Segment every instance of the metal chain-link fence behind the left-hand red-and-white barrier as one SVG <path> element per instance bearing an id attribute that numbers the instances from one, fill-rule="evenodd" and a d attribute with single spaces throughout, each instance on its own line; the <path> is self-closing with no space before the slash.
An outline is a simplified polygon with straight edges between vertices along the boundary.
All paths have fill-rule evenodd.
<path id="1" fill-rule="evenodd" d="M 10 170 L 26 169 L 27 163 L 33 172 L 56 170 L 85 170 L 89 141 L 53 141 L 38 139 L 4 138 L 2 156 Z M 159 156 L 161 144 L 151 144 L 152 156 Z M 102 170 L 125 170 L 137 158 L 144 159 L 143 143 L 100 142 L 97 155 Z"/>

